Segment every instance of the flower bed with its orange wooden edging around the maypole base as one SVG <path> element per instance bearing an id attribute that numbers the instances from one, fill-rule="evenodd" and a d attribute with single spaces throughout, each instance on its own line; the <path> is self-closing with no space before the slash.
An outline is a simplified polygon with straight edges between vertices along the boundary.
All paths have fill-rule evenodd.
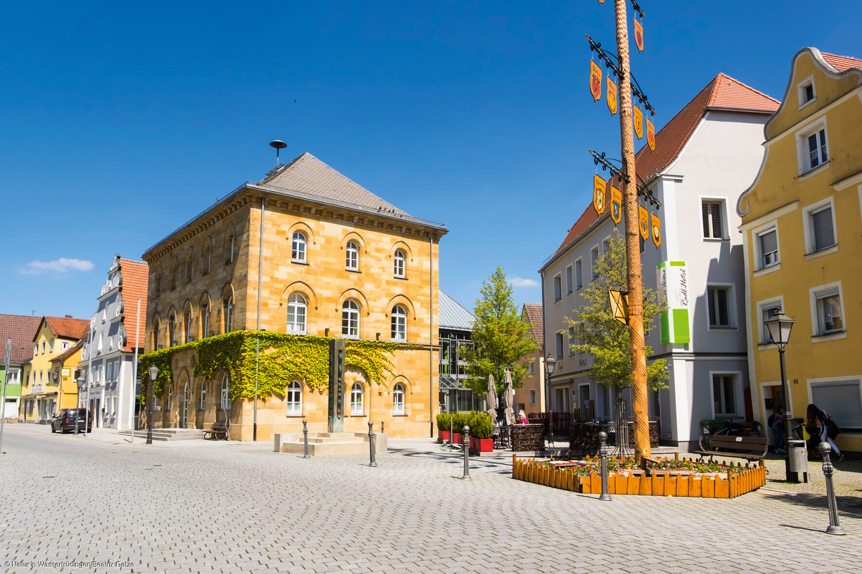
<path id="1" fill-rule="evenodd" d="M 703 459 L 659 459 L 647 463 L 647 469 L 650 476 L 634 459 L 609 459 L 609 494 L 734 498 L 766 484 L 762 463 L 743 467 Z M 513 478 L 583 494 L 602 492 L 600 472 L 596 459 L 536 462 L 512 455 Z"/>

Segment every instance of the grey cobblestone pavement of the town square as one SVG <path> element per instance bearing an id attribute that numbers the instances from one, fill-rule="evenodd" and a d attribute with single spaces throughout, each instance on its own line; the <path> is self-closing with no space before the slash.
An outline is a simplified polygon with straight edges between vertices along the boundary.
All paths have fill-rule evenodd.
<path id="1" fill-rule="evenodd" d="M 134 446 L 7 425 L 0 484 L 12 560 L 158 572 L 860 572 L 862 499 L 821 491 L 733 500 L 597 496 L 510 478 L 510 459 L 429 442 L 302 459 L 269 444 Z M 773 471 L 774 473 L 774 471 Z M 815 474 L 814 472 L 812 474 Z M 63 572 L 132 571 L 117 567 Z"/>

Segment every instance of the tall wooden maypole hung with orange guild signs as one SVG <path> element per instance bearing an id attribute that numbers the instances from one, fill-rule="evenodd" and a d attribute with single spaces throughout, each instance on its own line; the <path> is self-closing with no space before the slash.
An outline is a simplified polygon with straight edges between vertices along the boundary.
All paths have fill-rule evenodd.
<path id="1" fill-rule="evenodd" d="M 638 50 L 643 51 L 643 25 L 640 20 L 644 13 L 637 4 L 637 0 L 630 0 L 637 16 L 634 17 L 634 42 Z M 604 0 L 599 0 L 603 3 Z M 641 206 L 640 197 L 644 197 L 651 206 L 659 209 L 661 203 L 653 197 L 646 185 L 639 185 L 637 171 L 634 166 L 634 134 L 640 139 L 644 134 L 644 111 L 655 115 L 655 109 L 647 101 L 647 97 L 640 90 L 640 85 L 632 77 L 628 61 L 628 17 L 626 16 L 627 0 L 614 0 L 615 23 L 616 23 L 616 54 L 602 49 L 601 43 L 595 42 L 587 36 L 590 41 L 590 53 L 596 53 L 598 58 L 604 62 L 617 79 L 613 84 L 618 93 L 614 100 L 620 111 L 620 139 L 622 159 L 612 160 L 605 157 L 604 153 L 596 153 L 590 150 L 596 165 L 600 163 L 604 169 L 609 169 L 611 177 L 618 177 L 622 182 L 622 190 L 611 186 L 610 203 L 611 217 L 615 222 L 625 221 L 626 238 L 626 262 L 628 266 L 628 289 L 626 291 L 609 290 L 609 297 L 615 309 L 615 318 L 628 325 L 630 353 L 632 360 L 632 411 L 634 415 L 634 455 L 640 460 L 641 457 L 650 457 L 652 449 L 649 441 L 649 419 L 647 409 L 647 356 L 645 353 L 644 325 L 643 325 L 643 282 L 640 271 L 640 241 L 653 237 L 656 248 L 661 245 L 661 223 L 659 216 L 649 214 L 647 209 Z M 638 18 L 640 16 L 640 20 Z M 590 93 L 595 101 L 601 97 L 601 80 L 595 85 L 596 62 L 590 58 Z M 599 75 L 599 78 L 601 76 Z M 610 88 L 610 74 L 608 75 L 608 86 Z M 643 105 L 641 109 L 634 103 L 634 97 Z M 611 98 L 608 97 L 608 106 L 611 108 Z M 651 150 L 655 149 L 655 134 L 653 122 L 647 120 L 647 143 Z M 619 161 L 620 166 L 613 165 L 612 161 Z M 596 178 L 599 178 L 598 175 Z M 593 206 L 599 215 L 604 210 L 604 180 L 602 184 L 601 204 L 597 197 L 597 182 L 593 185 Z M 619 197 L 615 194 L 619 194 Z M 620 209 L 616 209 L 619 202 Z M 639 237 L 640 235 L 640 237 Z M 625 296 L 624 296 L 625 295 Z M 628 309 L 626 309 L 628 308 Z"/>

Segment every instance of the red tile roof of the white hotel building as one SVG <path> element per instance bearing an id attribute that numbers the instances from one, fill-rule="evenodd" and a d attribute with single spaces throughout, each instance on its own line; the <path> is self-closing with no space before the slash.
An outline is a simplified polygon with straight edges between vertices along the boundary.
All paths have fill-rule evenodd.
<path id="1" fill-rule="evenodd" d="M 644 145 L 638 153 L 634 154 L 634 165 L 637 169 L 638 178 L 640 181 L 646 182 L 676 161 L 709 108 L 738 109 L 746 112 L 771 114 L 778 109 L 779 105 L 780 102 L 775 98 L 766 96 L 764 93 L 723 73 L 718 74 L 689 103 L 686 103 L 684 108 L 680 109 L 677 115 L 674 115 L 670 122 L 665 124 L 664 128 L 659 129 L 659 132 L 655 134 L 655 150 Z M 617 178 L 617 183 L 615 183 L 617 187 L 620 185 L 619 182 L 620 179 Z M 605 190 L 605 205 L 610 203 L 609 194 L 610 179 L 607 190 Z M 609 209 L 606 209 L 603 214 L 603 217 L 606 216 L 609 216 Z M 565 240 L 559 245 L 551 259 L 572 245 L 599 219 L 596 210 L 590 203 L 578 221 L 569 229 Z"/>

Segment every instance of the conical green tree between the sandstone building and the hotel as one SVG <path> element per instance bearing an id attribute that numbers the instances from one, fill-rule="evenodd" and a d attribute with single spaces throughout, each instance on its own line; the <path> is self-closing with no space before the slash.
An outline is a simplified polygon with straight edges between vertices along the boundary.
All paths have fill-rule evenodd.
<path id="1" fill-rule="evenodd" d="M 515 389 L 520 389 L 529 377 L 528 365 L 532 361 L 519 361 L 538 348 L 530 335 L 531 325 L 521 320 L 503 267 L 497 266 L 490 278 L 484 280 L 480 293 L 473 310 L 474 346 L 462 347 L 460 351 L 470 374 L 465 384 L 476 394 L 484 394 L 488 390 L 488 375 L 494 375 L 497 392 L 501 393 L 503 374 L 509 367 L 512 383 Z"/>

